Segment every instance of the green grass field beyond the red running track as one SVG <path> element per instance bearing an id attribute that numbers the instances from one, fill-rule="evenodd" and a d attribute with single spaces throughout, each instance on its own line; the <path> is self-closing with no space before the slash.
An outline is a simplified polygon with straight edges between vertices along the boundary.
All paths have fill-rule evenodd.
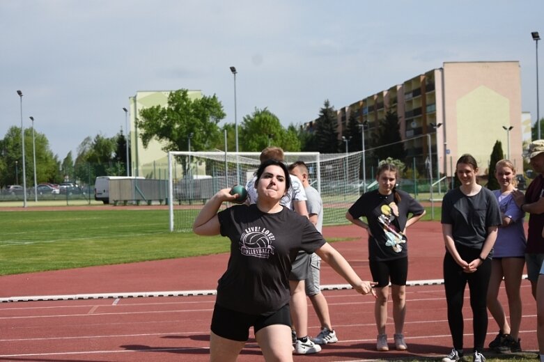
<path id="1" fill-rule="evenodd" d="M 424 219 L 430 220 L 430 210 Z M 0 275 L 187 258 L 226 253 L 229 246 L 221 236 L 170 233 L 168 210 L 0 208 L 0 220 Z"/>

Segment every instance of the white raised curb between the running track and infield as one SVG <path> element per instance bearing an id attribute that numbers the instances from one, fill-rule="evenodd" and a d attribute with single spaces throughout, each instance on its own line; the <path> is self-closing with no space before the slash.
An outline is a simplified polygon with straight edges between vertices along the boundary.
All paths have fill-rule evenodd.
<path id="1" fill-rule="evenodd" d="M 527 279 L 527 274 L 522 276 Z M 422 285 L 442 285 L 444 279 L 428 279 L 421 281 L 407 281 L 407 287 Z M 321 290 L 349 290 L 353 287 L 349 284 L 327 284 L 321 285 Z M 78 299 L 122 299 L 122 298 L 153 298 L 153 297 L 199 297 L 203 295 L 215 295 L 217 290 L 173 290 L 167 292 L 119 292 L 119 293 L 92 293 L 92 294 L 62 294 L 62 295 L 33 295 L 27 297 L 0 298 L 1 303 L 12 303 L 18 301 L 59 301 Z"/>

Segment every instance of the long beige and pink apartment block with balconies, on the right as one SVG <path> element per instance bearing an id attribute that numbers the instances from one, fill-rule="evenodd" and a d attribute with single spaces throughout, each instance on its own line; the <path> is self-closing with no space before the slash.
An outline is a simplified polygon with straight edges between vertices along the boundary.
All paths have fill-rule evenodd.
<path id="1" fill-rule="evenodd" d="M 340 109 L 338 132 L 343 134 L 355 112 L 359 123 L 366 123 L 365 149 L 371 150 L 380 146 L 372 134 L 387 111 L 398 115 L 405 163 L 419 165 L 420 172 L 430 141 L 433 175 L 451 176 L 464 153 L 473 155 L 485 174 L 497 140 L 522 172 L 522 142 L 527 134 L 530 139 L 531 123 L 522 116 L 518 61 L 446 62 Z"/>

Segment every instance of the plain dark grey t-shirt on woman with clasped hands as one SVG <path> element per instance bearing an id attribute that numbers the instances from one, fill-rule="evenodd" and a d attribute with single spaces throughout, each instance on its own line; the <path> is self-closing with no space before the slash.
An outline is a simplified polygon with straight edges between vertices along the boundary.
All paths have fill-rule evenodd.
<path id="1" fill-rule="evenodd" d="M 451 225 L 454 242 L 472 249 L 482 249 L 490 226 L 502 225 L 497 198 L 485 187 L 473 196 L 459 188 L 448 191 L 442 200 L 441 222 Z"/>

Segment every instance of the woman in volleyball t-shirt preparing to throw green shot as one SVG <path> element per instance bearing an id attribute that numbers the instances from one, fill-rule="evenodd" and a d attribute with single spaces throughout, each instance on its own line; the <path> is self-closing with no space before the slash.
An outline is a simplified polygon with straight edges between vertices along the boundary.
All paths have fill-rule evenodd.
<path id="1" fill-rule="evenodd" d="M 279 201 L 290 184 L 287 167 L 275 159 L 256 173 L 258 201 L 217 212 L 236 194 L 217 192 L 196 217 L 198 235 L 231 239 L 231 256 L 219 279 L 212 316 L 210 361 L 235 361 L 249 338 L 255 338 L 265 361 L 293 361 L 289 314 L 289 272 L 299 250 L 317 253 L 357 292 L 374 294 L 374 283 L 362 281 L 308 219 Z"/>

